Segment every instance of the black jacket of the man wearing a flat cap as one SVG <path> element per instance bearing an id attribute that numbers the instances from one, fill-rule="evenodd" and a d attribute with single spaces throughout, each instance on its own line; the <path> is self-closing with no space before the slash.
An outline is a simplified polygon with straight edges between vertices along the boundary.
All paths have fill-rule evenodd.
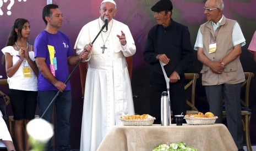
<path id="1" fill-rule="evenodd" d="M 193 62 L 193 48 L 190 43 L 190 34 L 188 28 L 178 22 L 171 20 L 168 27 L 155 25 L 151 28 L 143 52 L 144 60 L 149 64 L 152 74 L 157 77 L 163 77 L 162 68 L 158 54 L 166 54 L 170 62 L 164 66 L 166 74 L 170 77 L 173 71 L 184 78 L 184 72 L 187 66 Z M 151 84 L 165 83 L 164 81 L 153 81 Z"/>

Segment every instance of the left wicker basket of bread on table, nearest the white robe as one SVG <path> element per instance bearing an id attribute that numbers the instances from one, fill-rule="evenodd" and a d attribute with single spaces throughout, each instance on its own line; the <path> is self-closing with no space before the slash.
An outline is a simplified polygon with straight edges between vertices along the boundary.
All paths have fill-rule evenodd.
<path id="1" fill-rule="evenodd" d="M 149 119 L 120 119 L 124 126 L 150 126 L 156 118 Z"/>

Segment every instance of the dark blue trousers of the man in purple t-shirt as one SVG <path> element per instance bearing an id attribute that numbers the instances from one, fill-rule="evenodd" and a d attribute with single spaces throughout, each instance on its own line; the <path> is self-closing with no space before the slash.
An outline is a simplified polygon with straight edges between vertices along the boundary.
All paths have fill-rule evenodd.
<path id="1" fill-rule="evenodd" d="M 57 94 L 57 91 L 38 91 L 37 101 L 40 108 L 40 117 L 45 112 L 46 108 L 52 101 L 53 97 Z M 58 150 L 70 150 L 69 146 L 69 131 L 70 131 L 70 109 L 72 104 L 71 91 L 61 92 L 56 101 L 52 103 L 48 108 L 43 119 L 51 123 L 52 109 L 55 105 L 57 116 L 57 137 L 58 137 Z M 51 140 L 47 144 L 47 150 L 53 150 Z"/>

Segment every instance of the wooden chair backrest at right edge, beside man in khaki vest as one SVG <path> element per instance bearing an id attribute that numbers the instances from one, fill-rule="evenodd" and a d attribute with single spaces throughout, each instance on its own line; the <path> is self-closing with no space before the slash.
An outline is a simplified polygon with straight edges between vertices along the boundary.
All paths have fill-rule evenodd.
<path id="1" fill-rule="evenodd" d="M 249 108 L 249 90 L 250 90 L 250 82 L 252 78 L 254 77 L 254 73 L 252 72 L 244 72 L 244 77 L 246 80 L 242 83 L 242 88 L 244 87 L 245 93 L 244 93 L 244 100 L 241 99 L 241 106 Z"/>

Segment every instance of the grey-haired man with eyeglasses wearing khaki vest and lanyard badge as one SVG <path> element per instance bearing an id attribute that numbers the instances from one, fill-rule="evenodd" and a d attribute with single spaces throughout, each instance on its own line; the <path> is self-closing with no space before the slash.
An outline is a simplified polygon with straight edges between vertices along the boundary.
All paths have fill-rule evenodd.
<path id="1" fill-rule="evenodd" d="M 210 112 L 219 117 L 216 123 L 222 123 L 224 95 L 228 130 L 237 148 L 243 150 L 240 91 L 245 79 L 239 55 L 246 39 L 238 22 L 222 15 L 223 9 L 222 0 L 205 2 L 204 14 L 208 21 L 200 26 L 194 49 L 198 60 L 203 63 L 202 84 Z"/>

